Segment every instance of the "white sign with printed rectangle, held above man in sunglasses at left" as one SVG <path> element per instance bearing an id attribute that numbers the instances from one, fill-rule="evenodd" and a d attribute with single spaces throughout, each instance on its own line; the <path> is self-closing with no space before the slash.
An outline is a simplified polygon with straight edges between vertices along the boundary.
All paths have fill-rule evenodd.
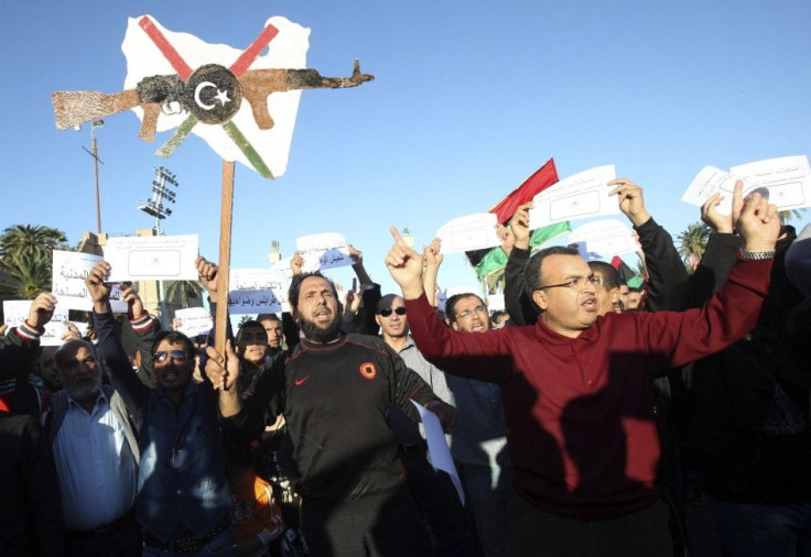
<path id="1" fill-rule="evenodd" d="M 117 237 L 107 240 L 105 260 L 112 282 L 196 281 L 197 234 Z"/>

